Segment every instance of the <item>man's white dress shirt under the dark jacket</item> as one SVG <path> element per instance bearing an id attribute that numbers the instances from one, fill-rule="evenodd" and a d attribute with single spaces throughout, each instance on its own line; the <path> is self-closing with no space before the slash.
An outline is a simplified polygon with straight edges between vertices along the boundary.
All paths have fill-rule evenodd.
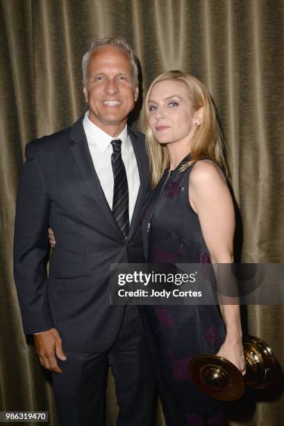
<path id="1" fill-rule="evenodd" d="M 110 206 L 110 210 L 112 210 L 114 184 L 111 165 L 112 145 L 110 142 L 114 139 L 120 139 L 122 141 L 122 159 L 124 161 L 128 182 L 129 223 L 131 223 L 140 187 L 140 178 L 131 139 L 127 133 L 127 125 L 122 130 L 122 133 L 114 138 L 94 125 L 94 123 L 89 120 L 89 111 L 87 111 L 83 118 L 83 127 L 87 137 L 87 145 L 89 146 L 92 161 L 94 163 L 94 168 L 96 169 L 99 181 L 101 182 L 101 187 L 106 196 L 106 200 L 108 201 L 108 205 Z"/>

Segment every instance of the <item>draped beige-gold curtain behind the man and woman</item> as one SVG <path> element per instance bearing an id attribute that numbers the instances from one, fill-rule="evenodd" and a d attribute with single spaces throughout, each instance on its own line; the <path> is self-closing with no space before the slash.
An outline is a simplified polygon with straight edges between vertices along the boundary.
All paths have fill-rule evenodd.
<path id="1" fill-rule="evenodd" d="M 72 125 L 85 111 L 81 57 L 95 38 L 122 36 L 140 59 L 142 95 L 169 69 L 188 70 L 208 86 L 242 217 L 242 260 L 283 262 L 284 2 L 2 0 L 0 19 L 0 411 L 49 410 L 56 426 L 51 386 L 22 333 L 12 277 L 24 146 Z M 139 109 L 133 126 L 142 129 Z M 249 332 L 272 346 L 282 366 L 283 313 L 281 306 L 244 310 Z M 279 380 L 269 395 L 248 392 L 226 411 L 231 425 L 278 426 L 283 405 Z M 115 425 L 116 411 L 110 377 L 108 425 Z"/>

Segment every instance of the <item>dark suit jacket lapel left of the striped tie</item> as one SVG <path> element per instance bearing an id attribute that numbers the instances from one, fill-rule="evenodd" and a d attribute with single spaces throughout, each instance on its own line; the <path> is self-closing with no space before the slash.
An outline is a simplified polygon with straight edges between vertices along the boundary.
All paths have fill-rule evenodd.
<path id="1" fill-rule="evenodd" d="M 87 138 L 83 128 L 83 117 L 79 118 L 72 127 L 70 142 L 71 150 L 78 169 L 81 172 L 87 187 L 90 189 L 94 201 L 97 203 L 97 206 L 101 209 L 104 216 L 108 218 L 112 228 L 115 232 L 117 232 L 119 237 L 121 237 L 122 232 L 119 230 L 117 221 L 115 221 L 112 211 L 110 210 L 106 196 L 101 188 L 101 182 L 99 182 L 97 172 L 94 168 L 94 163 L 92 161 L 92 156 L 87 145 Z"/>

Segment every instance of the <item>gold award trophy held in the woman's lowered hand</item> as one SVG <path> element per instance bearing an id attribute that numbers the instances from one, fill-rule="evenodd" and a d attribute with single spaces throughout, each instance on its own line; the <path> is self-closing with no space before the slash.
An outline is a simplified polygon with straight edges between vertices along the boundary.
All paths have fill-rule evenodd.
<path id="1" fill-rule="evenodd" d="M 276 370 L 272 349 L 261 339 L 247 336 L 243 340 L 246 374 L 226 358 L 212 354 L 194 356 L 190 361 L 190 379 L 215 400 L 234 401 L 244 394 L 246 386 L 267 387 Z"/>

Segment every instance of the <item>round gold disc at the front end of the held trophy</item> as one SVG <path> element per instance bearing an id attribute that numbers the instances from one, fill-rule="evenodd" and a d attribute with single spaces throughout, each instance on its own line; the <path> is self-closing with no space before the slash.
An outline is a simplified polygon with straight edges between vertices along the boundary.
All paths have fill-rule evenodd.
<path id="1" fill-rule="evenodd" d="M 215 400 L 234 401 L 244 394 L 242 374 L 233 363 L 222 356 L 194 356 L 190 362 L 190 379 L 201 392 Z"/>

